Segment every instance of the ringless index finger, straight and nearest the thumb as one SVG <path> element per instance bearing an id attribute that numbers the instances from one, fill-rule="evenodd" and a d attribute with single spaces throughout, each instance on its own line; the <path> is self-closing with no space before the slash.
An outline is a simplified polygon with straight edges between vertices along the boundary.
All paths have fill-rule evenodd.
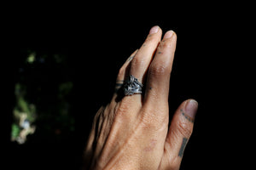
<path id="1" fill-rule="evenodd" d="M 144 97 L 144 103 L 148 102 L 148 105 L 166 105 L 168 102 L 169 82 L 176 42 L 177 36 L 175 32 L 167 31 L 157 48 L 148 70 L 147 87 Z"/>

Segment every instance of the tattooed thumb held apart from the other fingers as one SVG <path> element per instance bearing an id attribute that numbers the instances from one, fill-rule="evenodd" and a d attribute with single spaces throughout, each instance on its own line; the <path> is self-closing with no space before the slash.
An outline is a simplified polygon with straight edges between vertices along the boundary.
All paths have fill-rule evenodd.
<path id="1" fill-rule="evenodd" d="M 181 162 L 183 151 L 193 131 L 197 108 L 198 104 L 194 99 L 188 99 L 178 107 L 166 137 L 165 162 L 177 165 Z"/>

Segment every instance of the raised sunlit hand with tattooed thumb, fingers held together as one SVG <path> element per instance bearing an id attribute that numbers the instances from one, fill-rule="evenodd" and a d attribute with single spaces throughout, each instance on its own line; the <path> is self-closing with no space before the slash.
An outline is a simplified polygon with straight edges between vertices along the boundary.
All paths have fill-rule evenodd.
<path id="1" fill-rule="evenodd" d="M 142 47 L 120 68 L 116 92 L 95 116 L 85 149 L 89 169 L 179 169 L 193 130 L 197 102 L 183 101 L 169 123 L 169 82 L 177 36 L 154 26 Z M 129 75 L 143 83 L 143 94 L 123 96 Z"/>

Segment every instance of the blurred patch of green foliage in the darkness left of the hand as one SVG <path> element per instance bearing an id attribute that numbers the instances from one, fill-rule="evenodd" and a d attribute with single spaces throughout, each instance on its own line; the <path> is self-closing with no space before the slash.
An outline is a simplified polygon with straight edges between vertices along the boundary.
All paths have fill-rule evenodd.
<path id="1" fill-rule="evenodd" d="M 47 48 L 22 48 L 19 58 L 12 141 L 19 142 L 22 133 L 31 134 L 29 139 L 34 141 L 67 139 L 75 129 L 73 71 L 68 65 L 67 53 L 58 54 Z M 35 132 L 31 127 L 37 127 Z"/>

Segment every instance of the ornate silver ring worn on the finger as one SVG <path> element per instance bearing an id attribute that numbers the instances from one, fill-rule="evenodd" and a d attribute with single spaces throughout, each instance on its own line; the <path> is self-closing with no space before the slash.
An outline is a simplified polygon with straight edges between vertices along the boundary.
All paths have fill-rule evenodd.
<path id="1" fill-rule="evenodd" d="M 130 75 L 124 84 L 125 95 L 143 94 L 143 84 L 137 78 Z"/>

